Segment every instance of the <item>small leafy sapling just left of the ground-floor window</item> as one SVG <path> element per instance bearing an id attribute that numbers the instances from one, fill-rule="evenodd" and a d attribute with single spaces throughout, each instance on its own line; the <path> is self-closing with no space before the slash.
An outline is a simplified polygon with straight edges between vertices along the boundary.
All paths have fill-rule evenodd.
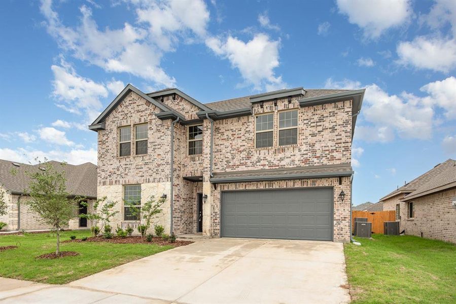
<path id="1" fill-rule="evenodd" d="M 103 231 L 104 225 L 109 224 L 111 219 L 119 213 L 119 211 L 113 211 L 112 209 L 117 205 L 117 202 L 106 202 L 107 197 L 97 199 L 93 203 L 92 209 L 87 209 L 87 214 L 81 214 L 80 217 L 87 218 L 90 221 L 92 235 L 96 236 L 99 231 Z M 82 206 L 89 207 L 87 202 L 81 202 Z M 101 206 L 101 208 L 100 208 Z M 101 223 L 101 227 L 98 224 Z"/>

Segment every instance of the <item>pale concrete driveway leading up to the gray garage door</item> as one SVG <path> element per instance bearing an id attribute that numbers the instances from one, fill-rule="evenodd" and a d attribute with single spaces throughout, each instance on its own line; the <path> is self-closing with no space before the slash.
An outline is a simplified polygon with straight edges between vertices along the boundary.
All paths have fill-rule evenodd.
<path id="1" fill-rule="evenodd" d="M 97 296 L 92 302 L 349 302 L 343 284 L 340 243 L 222 238 L 200 240 L 58 288 L 67 295 L 69 290 L 92 292 Z M 26 296 L 23 300 L 37 299 L 33 292 Z M 8 299 L 17 303 L 21 295 Z"/>

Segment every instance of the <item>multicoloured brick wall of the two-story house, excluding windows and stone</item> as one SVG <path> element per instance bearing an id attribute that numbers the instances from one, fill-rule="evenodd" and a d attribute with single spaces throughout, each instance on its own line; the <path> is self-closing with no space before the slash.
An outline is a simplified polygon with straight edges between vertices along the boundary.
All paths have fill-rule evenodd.
<path id="1" fill-rule="evenodd" d="M 164 96 L 163 103 L 176 109 L 186 119 L 196 119 L 198 107 L 177 96 Z M 214 122 L 214 172 L 256 170 L 310 165 L 349 163 L 352 143 L 352 102 L 337 102 L 325 105 L 299 107 L 298 98 L 264 102 L 263 107 L 253 106 L 253 112 L 274 112 L 274 145 L 270 148 L 255 148 L 255 115 L 225 119 Z M 298 144 L 278 146 L 278 112 L 298 110 Z M 106 130 L 98 131 L 98 196 L 107 195 L 109 200 L 121 199 L 119 192 L 125 184 L 148 184 L 154 187 L 170 182 L 171 120 L 156 118 L 158 109 L 147 100 L 128 94 L 106 119 Z M 130 126 L 134 137 L 134 125 L 148 123 L 148 154 L 118 157 L 118 128 Z M 334 240 L 349 240 L 349 178 L 320 178 L 254 183 L 221 184 L 214 189 L 210 178 L 211 123 L 203 125 L 203 153 L 188 155 L 188 126 L 176 124 L 174 128 L 173 170 L 173 230 L 177 234 L 195 233 L 197 230 L 197 193 L 208 195 L 203 205 L 203 233 L 220 235 L 220 198 L 224 189 L 283 188 L 283 187 L 334 187 L 335 195 L 341 189 L 346 194 L 342 204 L 334 200 Z M 185 180 L 186 176 L 202 176 L 201 182 Z M 119 188 L 120 187 L 120 188 Z M 119 190 L 120 189 L 120 190 Z M 154 192 L 151 188 L 150 192 Z M 169 195 L 169 193 L 168 193 Z M 122 206 L 122 205 L 120 205 Z M 170 208 L 170 207 L 169 207 Z M 119 214 L 118 220 L 121 221 Z M 166 217 L 165 215 L 163 215 Z M 169 231 L 170 219 L 163 218 Z M 167 225 L 167 226 L 166 226 Z"/>

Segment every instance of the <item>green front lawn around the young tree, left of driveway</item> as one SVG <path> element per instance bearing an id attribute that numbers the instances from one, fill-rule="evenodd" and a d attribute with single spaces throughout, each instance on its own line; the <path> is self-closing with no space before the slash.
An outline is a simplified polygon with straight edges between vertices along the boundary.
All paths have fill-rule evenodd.
<path id="1" fill-rule="evenodd" d="M 90 231 L 65 231 L 60 240 L 90 236 Z M 55 252 L 55 234 L 0 236 L 0 246 L 18 248 L 0 252 L 0 276 L 51 284 L 64 284 L 148 255 L 173 248 L 155 244 L 110 244 L 104 242 L 61 243 L 60 250 L 76 251 L 78 256 L 35 259 Z"/>

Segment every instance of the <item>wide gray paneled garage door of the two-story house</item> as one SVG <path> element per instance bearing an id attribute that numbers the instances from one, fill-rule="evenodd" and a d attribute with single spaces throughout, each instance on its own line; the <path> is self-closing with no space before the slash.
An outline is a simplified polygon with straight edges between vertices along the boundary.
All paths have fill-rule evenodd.
<path id="1" fill-rule="evenodd" d="M 223 192 L 222 237 L 331 241 L 332 206 L 332 188 Z"/>

